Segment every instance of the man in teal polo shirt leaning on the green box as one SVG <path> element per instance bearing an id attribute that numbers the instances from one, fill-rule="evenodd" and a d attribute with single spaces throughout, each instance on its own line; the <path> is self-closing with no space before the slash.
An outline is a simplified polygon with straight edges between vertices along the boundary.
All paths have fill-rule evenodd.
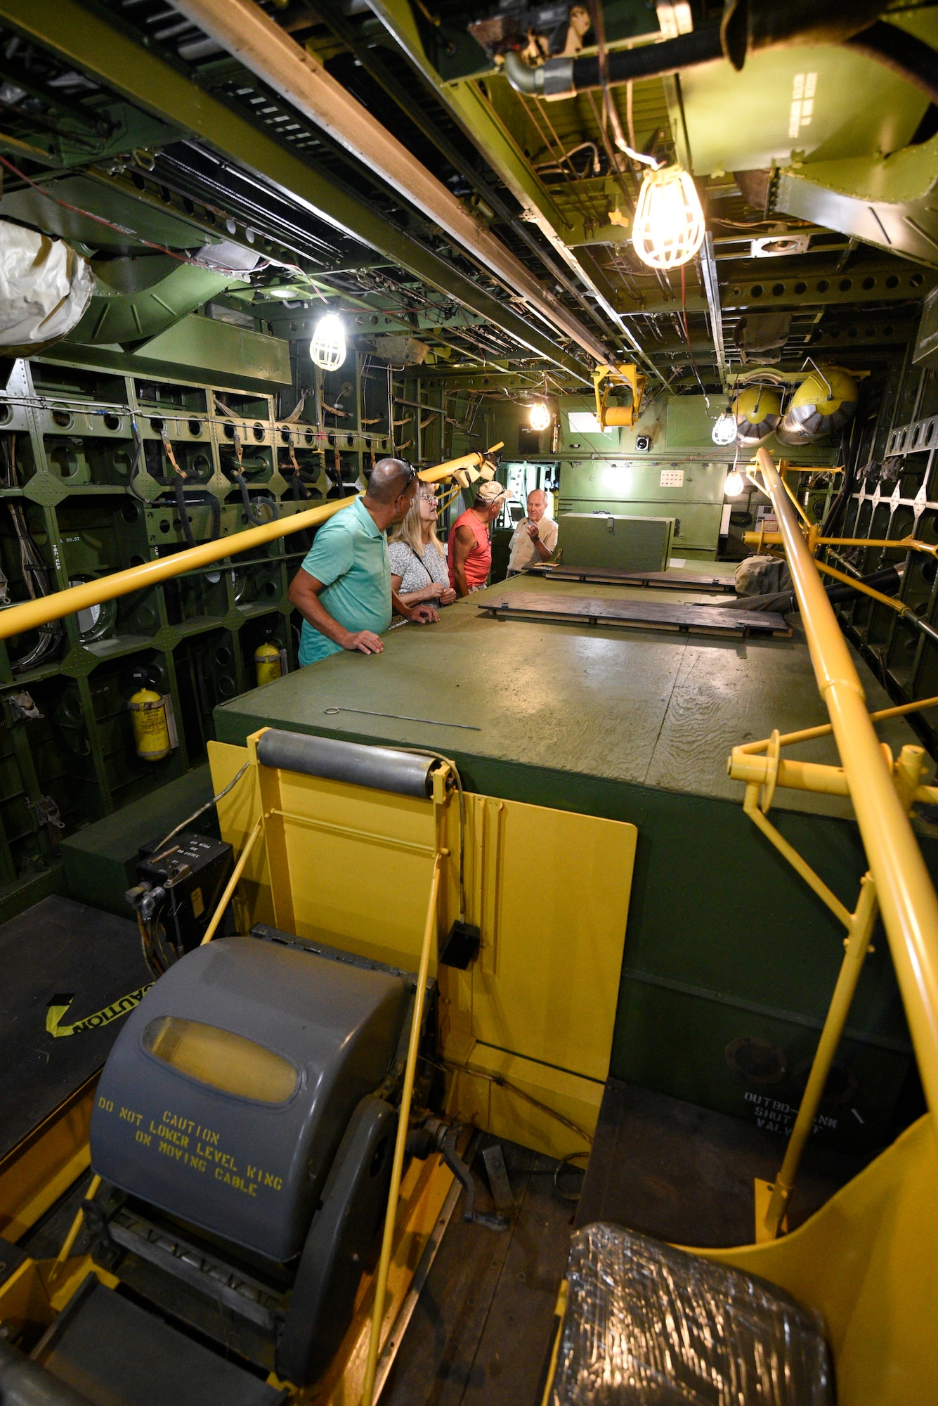
<path id="1" fill-rule="evenodd" d="M 432 606 L 406 606 L 390 588 L 385 533 L 404 520 L 416 492 L 410 464 L 382 458 L 364 496 L 319 529 L 289 586 L 291 603 L 303 617 L 300 665 L 341 650 L 381 654 L 378 636 L 390 624 L 392 610 L 414 624 L 440 619 Z"/>

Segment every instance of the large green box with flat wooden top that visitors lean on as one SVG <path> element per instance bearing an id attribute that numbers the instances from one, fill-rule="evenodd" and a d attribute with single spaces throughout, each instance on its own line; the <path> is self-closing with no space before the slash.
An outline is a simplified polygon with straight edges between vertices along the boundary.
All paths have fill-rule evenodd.
<path id="1" fill-rule="evenodd" d="M 708 571 L 732 575 L 733 567 Z M 560 592 L 715 603 L 694 592 L 520 576 L 449 606 L 437 626 L 392 628 L 381 655 L 333 655 L 219 706 L 216 735 L 243 745 L 271 725 L 435 748 L 456 761 L 469 790 L 632 821 L 639 849 L 611 1073 L 785 1132 L 843 929 L 744 817 L 743 786 L 727 778 L 726 759 L 774 727 L 827 721 L 803 634 L 725 640 L 500 620 L 479 609 Z M 887 707 L 869 669 L 857 666 L 871 710 Z M 901 718 L 879 735 L 893 752 L 917 741 Z M 830 738 L 792 755 L 837 762 Z M 865 862 L 850 817 L 843 799 L 798 792 L 779 792 L 772 811 L 852 908 Z M 938 872 L 935 841 L 923 838 L 923 849 Z M 543 863 L 562 865 L 563 855 L 545 853 Z M 875 948 L 817 1130 L 854 1150 L 887 1135 L 910 1064 L 882 931 Z"/>

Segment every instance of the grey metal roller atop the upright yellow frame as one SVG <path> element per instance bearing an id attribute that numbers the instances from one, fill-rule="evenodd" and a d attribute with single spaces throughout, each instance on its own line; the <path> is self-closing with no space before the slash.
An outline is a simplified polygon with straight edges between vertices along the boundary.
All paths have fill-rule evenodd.
<path id="1" fill-rule="evenodd" d="M 393 752 L 388 747 L 284 733 L 275 727 L 270 727 L 257 744 L 257 759 L 264 766 L 277 766 L 284 772 L 326 776 L 333 782 L 351 782 L 352 786 L 371 786 L 374 790 L 420 796 L 424 800 L 432 794 L 430 773 L 437 765 L 432 756 L 418 756 L 416 752 Z"/>

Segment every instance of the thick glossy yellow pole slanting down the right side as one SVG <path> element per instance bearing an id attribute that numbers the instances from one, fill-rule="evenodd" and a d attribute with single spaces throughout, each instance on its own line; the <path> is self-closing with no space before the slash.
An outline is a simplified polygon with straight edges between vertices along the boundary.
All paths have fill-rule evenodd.
<path id="1" fill-rule="evenodd" d="M 857 824 L 869 859 L 928 1107 L 938 1112 L 938 898 L 864 706 L 850 648 L 827 599 L 778 470 L 758 450 L 830 713 Z"/>

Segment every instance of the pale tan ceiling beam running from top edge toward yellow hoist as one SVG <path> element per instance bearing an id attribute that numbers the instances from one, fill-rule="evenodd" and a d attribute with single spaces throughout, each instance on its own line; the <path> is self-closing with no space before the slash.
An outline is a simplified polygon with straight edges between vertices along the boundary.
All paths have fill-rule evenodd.
<path id="1" fill-rule="evenodd" d="M 456 200 L 368 108 L 253 0 L 173 0 L 192 24 L 313 121 L 500 278 L 510 292 L 598 361 L 609 349 Z"/>

